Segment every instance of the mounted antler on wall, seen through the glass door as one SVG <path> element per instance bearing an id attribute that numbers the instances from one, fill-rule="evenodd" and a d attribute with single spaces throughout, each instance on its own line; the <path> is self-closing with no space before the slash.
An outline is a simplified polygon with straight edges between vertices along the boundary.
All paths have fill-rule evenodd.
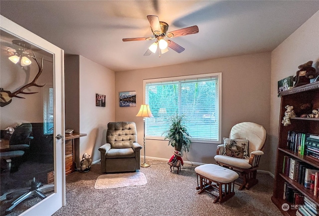
<path id="1" fill-rule="evenodd" d="M 33 52 L 32 52 L 33 53 Z M 0 89 L 0 107 L 4 107 L 8 104 L 11 103 L 12 98 L 23 98 L 21 96 L 18 96 L 18 94 L 25 94 L 25 95 L 30 95 L 30 94 L 35 94 L 38 92 L 24 92 L 25 89 L 31 87 L 31 86 L 36 86 L 36 87 L 43 87 L 44 85 L 38 85 L 35 82 L 37 81 L 37 79 L 39 78 L 39 76 L 41 75 L 42 71 L 43 71 L 43 57 L 41 59 L 41 64 L 38 62 L 38 60 L 35 57 L 35 54 L 33 53 L 33 57 L 32 57 L 35 62 L 37 63 L 38 67 L 39 67 L 39 71 L 36 74 L 35 78 L 32 80 L 31 83 L 28 83 L 24 86 L 22 86 L 20 89 L 16 90 L 15 92 L 11 93 L 10 91 L 4 91 L 2 88 Z M 23 98 L 24 99 L 24 98 Z"/>

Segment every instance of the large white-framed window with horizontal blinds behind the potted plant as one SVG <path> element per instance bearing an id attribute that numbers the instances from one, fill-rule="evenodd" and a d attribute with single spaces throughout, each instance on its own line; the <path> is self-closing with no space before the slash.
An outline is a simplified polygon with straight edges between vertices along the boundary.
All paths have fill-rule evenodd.
<path id="1" fill-rule="evenodd" d="M 185 113 L 193 141 L 220 143 L 221 73 L 144 80 L 144 87 L 154 116 L 146 118 L 148 138 L 162 139 L 169 117 Z"/>

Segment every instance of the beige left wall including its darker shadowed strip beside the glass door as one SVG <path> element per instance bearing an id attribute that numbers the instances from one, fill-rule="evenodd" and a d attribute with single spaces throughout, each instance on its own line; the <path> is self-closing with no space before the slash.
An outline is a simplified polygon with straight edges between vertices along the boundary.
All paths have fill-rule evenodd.
<path id="1" fill-rule="evenodd" d="M 75 141 L 75 160 L 84 153 L 100 159 L 98 148 L 105 143 L 107 123 L 114 121 L 114 72 L 83 56 L 65 58 L 65 126 L 87 136 Z M 106 107 L 95 106 L 95 94 L 106 95 Z"/>

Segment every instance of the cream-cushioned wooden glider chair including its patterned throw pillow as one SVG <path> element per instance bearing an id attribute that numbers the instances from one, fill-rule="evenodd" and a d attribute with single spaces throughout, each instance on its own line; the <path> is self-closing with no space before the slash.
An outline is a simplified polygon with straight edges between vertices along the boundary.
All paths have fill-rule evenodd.
<path id="1" fill-rule="evenodd" d="M 217 146 L 216 162 L 240 173 L 243 183 L 239 190 L 249 189 L 258 183 L 257 169 L 267 132 L 262 125 L 242 122 L 234 125 L 229 138 Z"/>

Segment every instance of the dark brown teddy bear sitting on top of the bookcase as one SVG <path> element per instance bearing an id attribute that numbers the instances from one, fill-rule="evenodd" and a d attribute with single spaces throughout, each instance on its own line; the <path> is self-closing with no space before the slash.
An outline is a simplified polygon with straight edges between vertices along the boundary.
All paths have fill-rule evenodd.
<path id="1" fill-rule="evenodd" d="M 313 61 L 309 61 L 298 66 L 299 71 L 297 71 L 296 76 L 293 78 L 293 81 L 296 82 L 294 88 L 309 84 L 311 79 L 318 76 L 316 69 L 312 65 Z"/>

